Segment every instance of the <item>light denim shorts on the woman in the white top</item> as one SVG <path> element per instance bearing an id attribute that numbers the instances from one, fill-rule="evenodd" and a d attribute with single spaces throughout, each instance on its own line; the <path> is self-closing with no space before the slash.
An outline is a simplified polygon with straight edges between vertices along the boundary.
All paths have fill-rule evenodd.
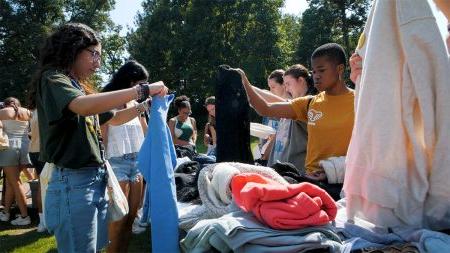
<path id="1" fill-rule="evenodd" d="M 137 166 L 137 153 L 125 154 L 108 159 L 119 182 L 138 182 L 141 172 Z"/>

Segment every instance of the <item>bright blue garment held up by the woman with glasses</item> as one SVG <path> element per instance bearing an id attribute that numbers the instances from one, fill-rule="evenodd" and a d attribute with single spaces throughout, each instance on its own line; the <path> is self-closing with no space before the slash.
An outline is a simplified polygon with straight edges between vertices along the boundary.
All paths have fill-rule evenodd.
<path id="1" fill-rule="evenodd" d="M 173 170 L 175 147 L 166 124 L 173 95 L 152 100 L 148 134 L 138 155 L 139 170 L 150 193 L 152 252 L 179 252 L 178 210 Z"/>

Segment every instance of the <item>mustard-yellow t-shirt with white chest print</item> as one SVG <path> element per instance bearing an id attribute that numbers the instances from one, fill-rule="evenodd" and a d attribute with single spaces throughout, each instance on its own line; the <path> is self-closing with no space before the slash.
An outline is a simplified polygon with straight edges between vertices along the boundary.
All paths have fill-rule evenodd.
<path id="1" fill-rule="evenodd" d="M 308 112 L 308 102 L 309 104 Z M 353 130 L 355 117 L 354 91 L 331 96 L 321 92 L 316 96 L 292 100 L 296 120 L 308 123 L 306 172 L 323 170 L 319 161 L 333 156 L 345 156 Z"/>

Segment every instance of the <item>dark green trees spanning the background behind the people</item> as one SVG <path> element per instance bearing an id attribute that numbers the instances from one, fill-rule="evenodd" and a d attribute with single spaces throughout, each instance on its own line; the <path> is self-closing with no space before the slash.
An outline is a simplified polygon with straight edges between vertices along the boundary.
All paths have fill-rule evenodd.
<path id="1" fill-rule="evenodd" d="M 266 87 L 268 74 L 301 63 L 327 42 L 353 51 L 369 0 L 307 0 L 301 16 L 282 13 L 284 0 L 144 0 L 135 28 L 126 37 L 109 12 L 114 0 L 0 0 L 0 99 L 24 101 L 43 39 L 73 21 L 102 37 L 103 79 L 126 58 L 147 67 L 150 80 L 163 80 L 199 106 L 214 93 L 217 67 L 243 68 Z M 97 80 L 100 80 L 97 76 Z"/>

